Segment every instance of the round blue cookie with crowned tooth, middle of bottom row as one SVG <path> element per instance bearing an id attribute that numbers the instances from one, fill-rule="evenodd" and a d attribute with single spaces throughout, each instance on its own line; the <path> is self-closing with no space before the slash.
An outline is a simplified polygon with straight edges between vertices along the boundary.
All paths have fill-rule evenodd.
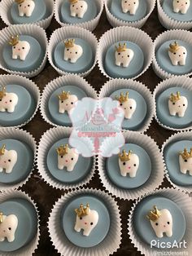
<path id="1" fill-rule="evenodd" d="M 89 210 L 81 214 L 81 206 Z M 80 209 L 79 209 L 80 207 Z M 75 209 L 79 211 L 76 214 Z M 63 206 L 61 212 L 62 227 L 65 236 L 72 244 L 84 248 L 94 247 L 105 239 L 110 228 L 110 213 L 102 199 L 93 195 L 74 197 Z"/>

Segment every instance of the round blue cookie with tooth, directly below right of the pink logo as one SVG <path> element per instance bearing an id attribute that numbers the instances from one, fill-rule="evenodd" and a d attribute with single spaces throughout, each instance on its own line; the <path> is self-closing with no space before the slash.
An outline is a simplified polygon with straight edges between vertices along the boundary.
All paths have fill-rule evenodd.
<path id="1" fill-rule="evenodd" d="M 123 150 L 129 157 L 124 157 Z M 144 148 L 126 143 L 120 149 L 120 157 L 113 155 L 106 160 L 107 176 L 117 187 L 129 189 L 142 186 L 151 175 L 151 158 Z"/>

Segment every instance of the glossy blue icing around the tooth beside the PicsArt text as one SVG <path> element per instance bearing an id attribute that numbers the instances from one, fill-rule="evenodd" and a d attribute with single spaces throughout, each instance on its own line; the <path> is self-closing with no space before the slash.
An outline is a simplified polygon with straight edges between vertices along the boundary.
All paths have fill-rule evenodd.
<path id="1" fill-rule="evenodd" d="M 152 210 L 154 205 L 156 205 L 159 210 L 167 209 L 172 214 L 173 228 L 171 237 L 164 235 L 164 237 L 159 238 L 155 235 L 155 231 L 149 219 L 146 218 L 146 214 Z M 151 241 L 153 240 L 165 243 L 173 243 L 174 241 L 180 242 L 185 235 L 185 215 L 181 208 L 174 201 L 160 195 L 147 196 L 138 203 L 133 214 L 133 225 L 137 236 L 148 245 L 151 245 Z"/>

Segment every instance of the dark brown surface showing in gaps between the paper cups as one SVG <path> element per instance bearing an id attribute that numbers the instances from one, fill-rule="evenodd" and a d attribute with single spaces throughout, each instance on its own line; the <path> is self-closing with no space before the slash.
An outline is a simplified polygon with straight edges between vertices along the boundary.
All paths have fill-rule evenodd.
<path id="1" fill-rule="evenodd" d="M 3 29 L 5 26 L 2 21 L 0 21 L 0 29 Z M 59 28 L 59 24 L 52 20 L 50 27 L 46 30 L 47 37 L 50 38 L 50 34 Z M 103 33 L 105 33 L 108 29 L 111 29 L 111 25 L 107 21 L 107 17 L 105 11 L 103 11 L 102 18 L 98 24 L 98 27 L 94 30 L 94 35 L 99 39 Z M 164 28 L 159 23 L 157 18 L 157 11 L 153 11 L 149 20 L 146 22 L 144 27 L 142 27 L 146 33 L 148 33 L 151 38 L 154 40 L 159 33 L 164 32 Z M 0 74 L 4 72 L 0 70 Z M 33 77 L 33 82 L 36 82 L 37 86 L 39 86 L 42 91 L 48 82 L 59 77 L 59 74 L 52 68 L 47 61 L 46 68 L 37 76 Z M 99 90 L 105 82 L 107 82 L 107 78 L 103 77 L 103 75 L 99 72 L 98 67 L 95 67 L 94 70 L 89 74 L 85 79 L 94 86 L 95 89 Z M 137 78 L 138 81 L 146 84 L 151 91 L 154 90 L 155 86 L 160 82 L 159 77 L 155 75 L 152 68 L 149 68 L 146 73 L 142 75 L 142 77 Z M 24 126 L 24 130 L 28 130 L 34 138 L 37 140 L 37 143 L 41 139 L 41 135 L 50 129 L 50 125 L 48 125 L 45 121 L 42 121 L 40 112 L 37 112 L 36 117 L 33 121 L 30 121 L 27 126 Z M 151 138 L 155 139 L 156 143 L 158 143 L 159 147 L 161 147 L 162 143 L 170 135 L 172 132 L 169 130 L 164 130 L 160 127 L 155 120 L 152 121 L 151 127 L 146 132 L 147 135 L 150 135 Z M 95 177 L 91 183 L 88 185 L 89 188 L 100 188 L 104 189 L 103 186 L 99 183 L 98 174 L 96 170 Z M 164 181 L 164 187 L 170 187 L 168 181 Z M 29 179 L 28 183 L 24 185 L 22 188 L 24 192 L 28 192 L 29 196 L 33 198 L 37 202 L 37 206 L 40 210 L 41 214 L 41 238 L 38 245 L 37 250 L 35 251 L 35 256 L 56 256 L 59 255 L 57 251 L 54 249 L 53 245 L 51 245 L 50 237 L 48 234 L 48 229 L 46 227 L 46 223 L 48 221 L 48 216 L 50 214 L 50 210 L 55 203 L 59 199 L 64 192 L 60 192 L 59 189 L 50 188 L 49 185 L 44 183 L 40 177 L 38 176 L 37 170 L 34 171 L 32 178 Z M 122 222 L 122 243 L 120 245 L 120 249 L 117 250 L 113 255 L 141 255 L 137 252 L 137 249 L 133 247 L 129 240 L 129 236 L 127 234 L 127 218 L 129 215 L 129 210 L 133 204 L 133 201 L 124 201 L 117 200 L 118 205 L 120 206 L 120 214 L 121 214 L 121 222 Z M 26 252 L 26 256 L 28 256 Z M 68 255 L 66 255 L 68 256 Z M 76 255 L 74 255 L 76 256 Z"/>

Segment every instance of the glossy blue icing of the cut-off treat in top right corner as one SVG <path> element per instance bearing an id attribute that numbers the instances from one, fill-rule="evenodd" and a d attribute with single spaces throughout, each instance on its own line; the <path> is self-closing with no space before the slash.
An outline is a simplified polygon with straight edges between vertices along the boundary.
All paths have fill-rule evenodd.
<path id="1" fill-rule="evenodd" d="M 164 12 L 173 20 L 180 20 L 180 21 L 191 21 L 192 20 L 192 6 L 190 4 L 190 8 L 185 14 L 181 14 L 181 12 L 176 13 L 173 11 L 172 1 L 164 0 L 162 5 Z"/>

